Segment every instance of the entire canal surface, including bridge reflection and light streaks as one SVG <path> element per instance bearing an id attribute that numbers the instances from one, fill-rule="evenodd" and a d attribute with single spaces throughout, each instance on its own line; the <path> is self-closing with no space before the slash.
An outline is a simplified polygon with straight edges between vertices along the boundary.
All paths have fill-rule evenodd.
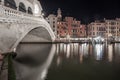
<path id="1" fill-rule="evenodd" d="M 120 80 L 120 44 L 20 44 L 17 80 Z"/>

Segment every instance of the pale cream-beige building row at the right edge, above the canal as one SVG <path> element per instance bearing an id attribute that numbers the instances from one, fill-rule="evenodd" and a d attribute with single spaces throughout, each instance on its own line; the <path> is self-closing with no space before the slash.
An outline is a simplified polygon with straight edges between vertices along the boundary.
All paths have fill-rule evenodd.
<path id="1" fill-rule="evenodd" d="M 95 21 L 90 23 L 88 26 L 89 37 L 119 37 L 120 36 L 120 19 L 114 20 Z"/>

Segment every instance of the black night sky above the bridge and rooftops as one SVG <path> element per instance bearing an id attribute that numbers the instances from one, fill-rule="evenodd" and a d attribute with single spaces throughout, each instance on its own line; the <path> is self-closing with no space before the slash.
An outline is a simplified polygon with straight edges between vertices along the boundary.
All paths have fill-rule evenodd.
<path id="1" fill-rule="evenodd" d="M 98 19 L 120 17 L 119 0 L 40 0 L 43 12 L 56 14 L 61 8 L 63 16 L 72 16 L 88 23 Z"/>

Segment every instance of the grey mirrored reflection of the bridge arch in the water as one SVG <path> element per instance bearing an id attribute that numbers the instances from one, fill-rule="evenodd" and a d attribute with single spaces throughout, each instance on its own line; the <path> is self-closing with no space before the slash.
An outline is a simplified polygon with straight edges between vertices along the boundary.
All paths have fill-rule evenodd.
<path id="1" fill-rule="evenodd" d="M 54 53 L 51 44 L 20 44 L 14 60 L 17 80 L 44 80 Z"/>

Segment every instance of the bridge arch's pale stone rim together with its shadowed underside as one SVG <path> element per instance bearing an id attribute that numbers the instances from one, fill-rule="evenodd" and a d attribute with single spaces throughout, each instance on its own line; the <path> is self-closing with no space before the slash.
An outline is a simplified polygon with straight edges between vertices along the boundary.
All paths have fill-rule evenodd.
<path id="1" fill-rule="evenodd" d="M 35 38 L 37 38 L 37 40 L 35 40 Z M 40 42 L 53 42 L 55 40 L 55 36 L 53 36 L 53 33 L 51 33 L 51 30 L 47 26 L 31 28 L 15 42 L 10 52 L 16 50 L 20 42 L 27 42 L 27 40 L 29 40 L 28 42 L 37 42 L 38 40 L 41 40 Z"/>

